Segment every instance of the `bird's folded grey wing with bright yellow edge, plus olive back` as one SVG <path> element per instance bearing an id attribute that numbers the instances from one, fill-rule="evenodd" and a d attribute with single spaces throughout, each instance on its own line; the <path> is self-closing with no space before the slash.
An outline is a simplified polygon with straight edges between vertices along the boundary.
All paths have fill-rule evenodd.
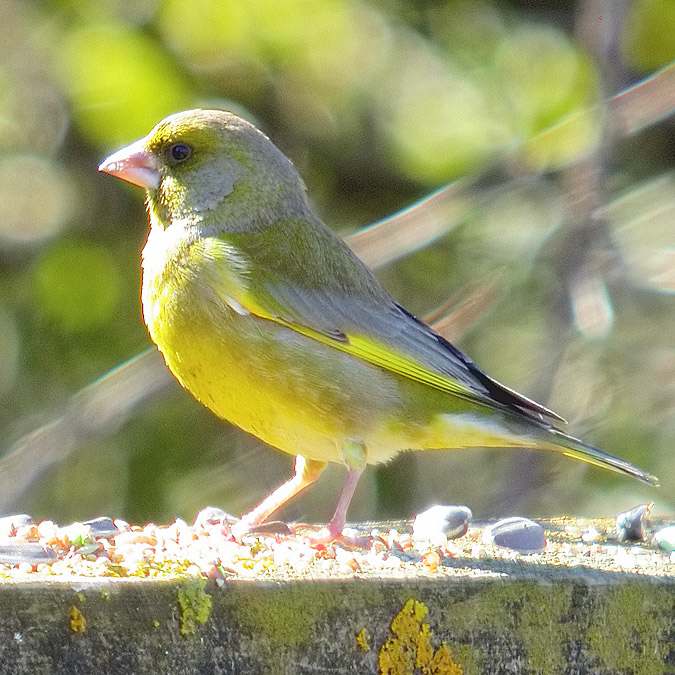
<path id="1" fill-rule="evenodd" d="M 306 237 L 294 238 L 286 232 L 287 245 L 281 251 L 281 242 L 253 244 L 252 250 L 255 239 L 250 235 L 236 237 L 236 242 L 228 236 L 227 245 L 234 244 L 249 265 L 247 283 L 236 298 L 241 308 L 453 396 L 539 422 L 544 418 L 563 421 L 490 378 L 459 349 L 396 303 L 332 233 L 318 230 L 317 236 L 319 241 L 308 242 Z M 322 236 L 327 241 L 321 241 Z"/>

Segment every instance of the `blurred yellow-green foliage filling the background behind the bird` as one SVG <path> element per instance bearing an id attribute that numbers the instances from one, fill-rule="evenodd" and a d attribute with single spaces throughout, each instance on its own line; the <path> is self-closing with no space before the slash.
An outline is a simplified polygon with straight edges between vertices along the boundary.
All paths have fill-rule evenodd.
<path id="1" fill-rule="evenodd" d="M 342 233 L 497 160 L 515 162 L 458 227 L 381 277 L 421 313 L 498 274 L 497 301 L 462 347 L 575 431 L 659 474 L 665 506 L 675 487 L 675 134 L 666 122 L 616 141 L 602 245 L 590 257 L 583 238 L 561 245 L 583 225 L 568 208 L 570 167 L 602 135 L 600 69 L 572 29 L 582 5 L 4 0 L 2 445 L 147 346 L 142 196 L 97 175 L 98 162 L 170 112 L 225 107 L 292 157 Z M 615 36 L 618 82 L 675 59 L 673 35 L 675 2 L 633 2 Z M 577 256 L 590 261 L 579 278 Z M 353 516 L 448 500 L 479 514 L 501 503 L 611 512 L 653 498 L 570 462 L 533 469 L 530 481 L 528 457 L 406 456 L 370 471 Z M 239 512 L 289 466 L 175 386 L 112 435 L 93 434 L 16 508 L 56 519 L 189 518 L 207 502 Z M 290 516 L 325 517 L 333 488 L 329 477 Z"/>

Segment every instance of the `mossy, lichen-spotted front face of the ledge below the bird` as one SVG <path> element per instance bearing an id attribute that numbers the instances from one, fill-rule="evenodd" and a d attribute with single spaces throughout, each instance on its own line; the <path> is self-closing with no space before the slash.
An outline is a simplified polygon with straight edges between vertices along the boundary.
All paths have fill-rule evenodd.
<path id="1" fill-rule="evenodd" d="M 0 673 L 675 672 L 672 577 L 0 584 Z"/>

